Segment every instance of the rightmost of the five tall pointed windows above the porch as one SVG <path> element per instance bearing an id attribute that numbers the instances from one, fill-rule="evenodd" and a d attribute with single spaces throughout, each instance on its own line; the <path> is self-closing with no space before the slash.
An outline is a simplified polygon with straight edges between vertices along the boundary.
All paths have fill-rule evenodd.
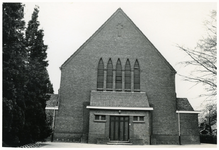
<path id="1" fill-rule="evenodd" d="M 140 66 L 137 59 L 134 65 L 134 90 L 140 90 Z"/>

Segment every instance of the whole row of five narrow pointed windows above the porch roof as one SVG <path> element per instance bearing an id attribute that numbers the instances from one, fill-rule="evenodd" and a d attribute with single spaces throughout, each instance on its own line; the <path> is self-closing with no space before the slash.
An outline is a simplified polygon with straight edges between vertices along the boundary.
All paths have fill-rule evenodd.
<path id="1" fill-rule="evenodd" d="M 112 91 L 115 88 L 116 91 L 124 90 L 130 92 L 133 86 L 134 91 L 139 92 L 140 66 L 138 60 L 136 59 L 134 69 L 132 70 L 130 61 L 127 59 L 124 68 L 125 69 L 122 70 L 122 64 L 119 58 L 116 62 L 115 69 L 113 69 L 113 63 L 110 58 L 105 70 L 103 59 L 100 58 L 97 69 L 97 90 L 102 91 L 106 88 L 107 91 Z"/>

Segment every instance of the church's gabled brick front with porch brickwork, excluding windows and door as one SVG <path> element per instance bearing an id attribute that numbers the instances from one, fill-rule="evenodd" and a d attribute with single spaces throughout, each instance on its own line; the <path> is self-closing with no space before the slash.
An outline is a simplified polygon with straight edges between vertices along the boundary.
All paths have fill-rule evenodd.
<path id="1" fill-rule="evenodd" d="M 104 89 L 97 91 L 97 67 L 101 58 L 104 62 Z M 114 83 L 112 91 L 105 92 L 107 62 L 110 58 L 114 80 L 116 62 L 118 59 L 121 61 L 121 91 L 115 91 Z M 127 59 L 131 64 L 130 92 L 124 90 L 124 68 Z M 136 60 L 140 65 L 140 92 L 134 92 L 133 89 L 133 67 Z M 132 143 L 179 144 L 175 74 L 176 71 L 153 44 L 130 18 L 118 9 L 61 66 L 60 104 L 54 141 L 107 143 L 110 115 L 127 115 Z M 98 94 L 99 96 L 93 97 Z M 95 99 L 93 104 L 92 98 Z M 101 100 L 105 100 L 105 103 Z M 88 109 L 87 106 L 145 107 L 153 110 L 122 110 L 122 114 L 119 114 L 119 109 Z M 106 121 L 95 122 L 95 113 L 106 113 Z M 134 114 L 143 115 L 144 122 L 133 123 Z"/>

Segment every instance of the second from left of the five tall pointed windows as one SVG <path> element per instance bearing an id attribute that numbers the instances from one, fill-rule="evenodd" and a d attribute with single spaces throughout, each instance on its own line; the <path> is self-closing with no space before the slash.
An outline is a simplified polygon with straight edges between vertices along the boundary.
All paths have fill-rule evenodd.
<path id="1" fill-rule="evenodd" d="M 111 58 L 107 63 L 106 88 L 107 90 L 113 89 L 113 63 Z"/>

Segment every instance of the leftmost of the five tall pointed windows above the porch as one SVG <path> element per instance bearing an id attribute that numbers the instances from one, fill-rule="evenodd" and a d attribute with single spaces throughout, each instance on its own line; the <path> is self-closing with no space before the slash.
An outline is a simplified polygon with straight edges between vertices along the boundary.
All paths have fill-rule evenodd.
<path id="1" fill-rule="evenodd" d="M 103 59 L 100 58 L 97 68 L 97 89 L 103 89 L 104 83 L 104 64 Z"/>

